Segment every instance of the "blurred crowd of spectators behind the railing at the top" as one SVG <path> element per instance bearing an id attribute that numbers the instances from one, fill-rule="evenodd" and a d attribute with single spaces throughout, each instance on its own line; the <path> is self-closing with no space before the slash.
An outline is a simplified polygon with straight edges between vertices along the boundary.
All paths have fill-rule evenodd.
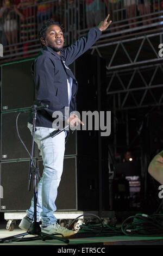
<path id="1" fill-rule="evenodd" d="M 10 53 L 17 52 L 17 43 L 23 42 L 23 50 L 37 38 L 43 20 L 54 19 L 64 26 L 65 1 L 71 7 L 80 5 L 81 28 L 97 26 L 110 13 L 110 31 L 118 31 L 117 22 L 128 19 L 128 27 L 137 26 L 135 17 L 142 17 L 142 25 L 151 24 L 152 12 L 163 10 L 163 0 L 1 0 L 0 38 L 3 46 L 9 45 Z M 84 14 L 84 17 L 83 17 Z M 149 15 L 148 15 L 149 14 Z M 83 23 L 85 27 L 82 27 Z"/>

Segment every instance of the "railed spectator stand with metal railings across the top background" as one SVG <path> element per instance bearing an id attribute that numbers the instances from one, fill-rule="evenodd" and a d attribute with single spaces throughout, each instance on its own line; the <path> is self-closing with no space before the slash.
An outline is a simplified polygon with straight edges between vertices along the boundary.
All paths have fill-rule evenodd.
<path id="1" fill-rule="evenodd" d="M 143 2 L 143 3 L 142 3 Z M 98 3 L 98 4 L 97 4 Z M 1 8 L 0 15 L 3 13 Z M 38 32 L 44 20 L 53 19 L 64 27 L 65 45 L 70 45 L 110 13 L 111 26 L 101 39 L 161 28 L 163 0 L 51 0 L 28 7 L 6 8 L 1 15 L 1 44 L 5 60 L 35 56 L 40 50 Z"/>

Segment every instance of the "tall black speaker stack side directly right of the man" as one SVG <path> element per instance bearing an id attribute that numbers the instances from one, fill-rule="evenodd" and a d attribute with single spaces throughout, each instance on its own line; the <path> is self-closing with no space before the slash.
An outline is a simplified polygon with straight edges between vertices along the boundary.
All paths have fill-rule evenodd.
<path id="1" fill-rule="evenodd" d="M 85 68 L 85 65 L 89 68 Z M 86 121 L 81 118 L 86 130 L 77 131 L 78 210 L 108 209 L 108 138 L 102 137 L 100 131 L 100 126 L 106 124 L 106 120 L 101 124 L 101 120 L 96 119 L 96 113 L 100 118 L 101 111 L 106 113 L 107 109 L 106 63 L 103 58 L 86 53 L 69 68 L 78 81 L 77 111 L 80 117 L 83 117 L 84 111 L 85 114 L 90 113 Z M 95 124 L 99 124 L 99 129 Z"/>

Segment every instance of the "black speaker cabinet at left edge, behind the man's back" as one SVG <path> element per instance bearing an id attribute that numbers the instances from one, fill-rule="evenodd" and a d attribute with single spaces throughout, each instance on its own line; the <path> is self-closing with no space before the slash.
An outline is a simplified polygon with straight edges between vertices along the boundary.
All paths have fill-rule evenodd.
<path id="1" fill-rule="evenodd" d="M 35 86 L 31 74 L 33 59 L 4 64 L 1 67 L 1 110 L 33 105 Z"/>

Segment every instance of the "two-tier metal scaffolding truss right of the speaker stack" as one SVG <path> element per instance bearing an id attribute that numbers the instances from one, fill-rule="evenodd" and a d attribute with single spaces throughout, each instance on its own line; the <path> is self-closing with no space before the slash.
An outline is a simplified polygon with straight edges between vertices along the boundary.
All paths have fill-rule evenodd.
<path id="1" fill-rule="evenodd" d="M 92 46 L 106 60 L 108 104 L 115 110 L 163 105 L 162 34 Z"/>

